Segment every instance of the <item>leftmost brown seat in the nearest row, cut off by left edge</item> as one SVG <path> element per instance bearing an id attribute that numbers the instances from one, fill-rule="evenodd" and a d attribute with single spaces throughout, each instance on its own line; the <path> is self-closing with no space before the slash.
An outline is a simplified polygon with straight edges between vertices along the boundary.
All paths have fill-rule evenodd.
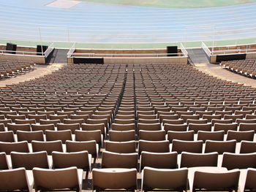
<path id="1" fill-rule="evenodd" d="M 25 168 L 2 170 L 0 172 L 0 191 L 32 192 L 34 180 L 29 180 Z"/>

